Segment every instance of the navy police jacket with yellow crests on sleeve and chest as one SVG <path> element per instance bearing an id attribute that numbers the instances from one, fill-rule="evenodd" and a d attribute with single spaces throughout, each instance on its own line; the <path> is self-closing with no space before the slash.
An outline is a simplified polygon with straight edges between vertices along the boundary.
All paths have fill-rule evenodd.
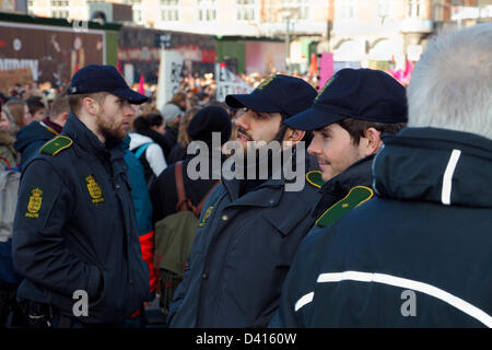
<path id="1" fill-rule="evenodd" d="M 62 133 L 26 165 L 13 261 L 25 277 L 21 300 L 73 317 L 78 291 L 85 292 L 89 315 L 78 320 L 87 324 L 118 324 L 138 310 L 149 294 L 149 269 L 120 143 L 103 144 L 69 116 Z"/>

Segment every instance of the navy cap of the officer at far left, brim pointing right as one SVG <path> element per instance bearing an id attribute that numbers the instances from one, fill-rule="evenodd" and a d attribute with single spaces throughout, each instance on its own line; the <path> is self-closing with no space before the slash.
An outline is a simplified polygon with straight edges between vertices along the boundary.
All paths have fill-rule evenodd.
<path id="1" fill-rule="evenodd" d="M 136 105 L 149 100 L 145 95 L 128 88 L 125 79 L 113 66 L 90 65 L 78 70 L 67 91 L 69 95 L 93 92 L 108 92 Z"/>

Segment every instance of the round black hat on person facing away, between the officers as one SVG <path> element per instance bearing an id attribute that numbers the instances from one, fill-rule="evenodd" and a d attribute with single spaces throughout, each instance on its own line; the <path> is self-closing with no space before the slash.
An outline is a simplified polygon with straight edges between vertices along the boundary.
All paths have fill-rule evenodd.
<path id="1" fill-rule="evenodd" d="M 200 109 L 188 125 L 188 136 L 194 141 L 212 143 L 212 132 L 221 132 L 221 144 L 231 138 L 231 117 L 222 107 L 208 106 Z"/>

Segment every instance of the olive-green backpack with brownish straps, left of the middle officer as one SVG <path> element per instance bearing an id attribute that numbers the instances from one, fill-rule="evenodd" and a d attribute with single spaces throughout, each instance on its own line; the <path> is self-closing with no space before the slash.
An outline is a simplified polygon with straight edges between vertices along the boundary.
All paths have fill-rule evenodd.
<path id="1" fill-rule="evenodd" d="M 157 269 L 157 294 L 160 294 L 160 306 L 164 315 L 167 315 L 176 288 L 183 281 L 186 259 L 197 234 L 201 208 L 207 197 L 219 185 L 218 182 L 195 207 L 186 198 L 183 162 L 177 162 L 175 165 L 175 178 L 178 195 L 177 212 L 157 221 L 154 230 L 154 266 Z"/>

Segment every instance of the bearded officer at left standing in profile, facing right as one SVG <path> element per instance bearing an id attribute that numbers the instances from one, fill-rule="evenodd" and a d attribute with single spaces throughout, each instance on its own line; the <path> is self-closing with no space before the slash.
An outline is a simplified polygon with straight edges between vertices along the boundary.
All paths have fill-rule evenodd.
<path id="1" fill-rule="evenodd" d="M 121 140 L 147 96 L 110 66 L 79 70 L 62 132 L 26 164 L 13 233 L 17 290 L 37 327 L 118 326 L 149 294 Z"/>

